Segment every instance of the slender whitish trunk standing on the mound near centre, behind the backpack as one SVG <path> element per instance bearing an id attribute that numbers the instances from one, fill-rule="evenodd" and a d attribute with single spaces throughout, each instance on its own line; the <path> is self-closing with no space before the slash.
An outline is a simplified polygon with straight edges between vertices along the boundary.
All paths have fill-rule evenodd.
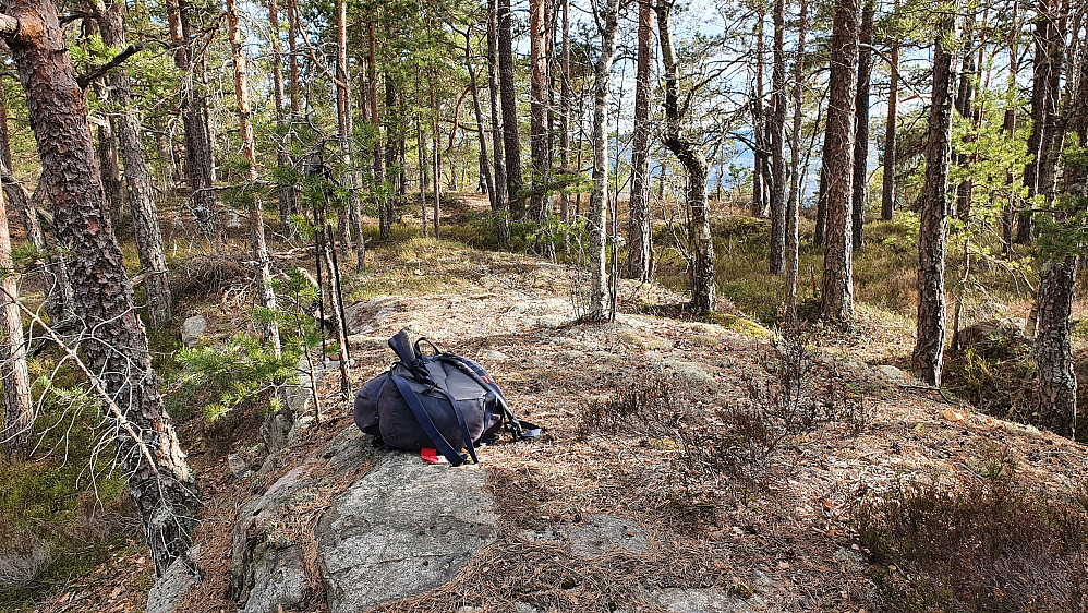
<path id="1" fill-rule="evenodd" d="M 590 197 L 590 301 L 587 318 L 603 322 L 608 316 L 608 269 L 605 257 L 608 209 L 608 82 L 616 56 L 619 0 L 605 0 L 600 12 L 601 55 L 593 67 L 593 195 Z"/>

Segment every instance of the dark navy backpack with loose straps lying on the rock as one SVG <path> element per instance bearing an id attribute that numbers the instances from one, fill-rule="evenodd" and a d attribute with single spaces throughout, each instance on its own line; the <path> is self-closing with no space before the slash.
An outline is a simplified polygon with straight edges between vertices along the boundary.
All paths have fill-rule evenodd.
<path id="1" fill-rule="evenodd" d="M 421 344 L 431 346 L 431 356 Z M 433 448 L 459 466 L 470 458 L 476 462 L 475 446 L 493 443 L 504 428 L 515 440 L 544 433 L 515 417 L 498 385 L 472 360 L 442 351 L 426 338 L 413 345 L 407 330 L 390 338 L 389 347 L 399 360 L 355 394 L 355 425 L 375 436 L 376 445 Z"/>

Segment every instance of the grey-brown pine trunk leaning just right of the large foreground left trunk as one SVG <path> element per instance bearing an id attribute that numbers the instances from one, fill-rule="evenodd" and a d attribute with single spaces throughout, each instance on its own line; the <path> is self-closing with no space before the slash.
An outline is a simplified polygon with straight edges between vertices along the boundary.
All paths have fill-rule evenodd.
<path id="1" fill-rule="evenodd" d="M 102 41 L 110 47 L 123 49 L 125 47 L 124 3 L 95 1 L 92 7 L 98 19 Z M 149 183 L 150 172 L 144 154 L 140 111 L 133 105 L 132 83 L 124 71 L 111 74 L 109 84 L 113 98 L 120 107 L 117 116 L 117 135 L 121 145 L 121 159 L 124 163 L 124 180 L 129 184 L 129 204 L 132 208 L 136 253 L 141 268 L 147 273 L 144 280 L 147 312 L 152 325 L 161 326 L 173 316 L 173 297 L 170 292 L 166 253 L 162 250 L 158 211 Z"/>

